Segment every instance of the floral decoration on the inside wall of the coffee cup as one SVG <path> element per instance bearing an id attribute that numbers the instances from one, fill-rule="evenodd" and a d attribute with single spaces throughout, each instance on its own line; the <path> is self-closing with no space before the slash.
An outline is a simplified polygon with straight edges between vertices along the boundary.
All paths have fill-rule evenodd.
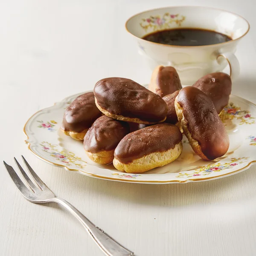
<path id="1" fill-rule="evenodd" d="M 185 16 L 179 14 L 170 14 L 166 12 L 163 17 L 160 15 L 150 16 L 148 18 L 143 18 L 140 26 L 147 31 L 148 29 L 152 29 L 153 31 L 157 31 L 160 29 L 168 29 L 170 28 L 170 24 L 176 23 L 177 26 L 181 26 L 181 23 L 186 19 Z"/>

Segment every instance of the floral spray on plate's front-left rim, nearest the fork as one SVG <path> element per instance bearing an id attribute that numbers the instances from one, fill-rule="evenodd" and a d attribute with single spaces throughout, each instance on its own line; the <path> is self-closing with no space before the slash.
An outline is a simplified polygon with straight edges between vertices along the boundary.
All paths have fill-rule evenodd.
<path id="1" fill-rule="evenodd" d="M 86 162 L 81 160 L 81 157 L 76 157 L 72 152 L 59 151 L 57 149 L 58 145 L 52 145 L 51 143 L 43 141 L 41 144 L 42 150 L 50 154 L 55 160 L 64 163 L 66 166 L 77 166 L 81 169 L 86 166 Z M 82 162 L 82 163 L 79 163 Z"/>

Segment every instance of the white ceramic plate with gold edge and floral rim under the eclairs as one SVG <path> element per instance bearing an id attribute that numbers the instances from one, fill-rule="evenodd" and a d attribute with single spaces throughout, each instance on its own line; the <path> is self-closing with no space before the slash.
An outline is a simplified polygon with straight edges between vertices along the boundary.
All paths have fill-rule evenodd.
<path id="1" fill-rule="evenodd" d="M 84 153 L 81 141 L 60 131 L 65 108 L 80 94 L 38 111 L 24 126 L 29 150 L 47 163 L 106 180 L 154 184 L 213 180 L 241 172 L 256 163 L 256 105 L 233 95 L 221 114 L 230 137 L 230 148 L 223 157 L 204 161 L 183 137 L 183 152 L 177 160 L 143 174 L 127 174 L 117 171 L 112 164 L 94 163 Z"/>

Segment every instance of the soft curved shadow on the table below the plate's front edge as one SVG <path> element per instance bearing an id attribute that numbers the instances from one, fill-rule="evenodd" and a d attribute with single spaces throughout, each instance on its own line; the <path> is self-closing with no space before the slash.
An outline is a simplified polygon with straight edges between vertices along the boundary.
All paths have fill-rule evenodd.
<path id="1" fill-rule="evenodd" d="M 247 200 L 253 197 L 251 187 L 255 186 L 255 166 L 239 174 L 217 180 L 178 184 L 138 184 L 100 180 L 84 175 L 58 174 L 58 182 L 83 195 L 94 191 L 107 200 L 130 201 L 134 204 L 159 207 L 182 207 L 193 205 L 225 204 Z M 52 178 L 57 172 L 52 172 Z M 68 180 L 67 180 L 68 177 Z"/>

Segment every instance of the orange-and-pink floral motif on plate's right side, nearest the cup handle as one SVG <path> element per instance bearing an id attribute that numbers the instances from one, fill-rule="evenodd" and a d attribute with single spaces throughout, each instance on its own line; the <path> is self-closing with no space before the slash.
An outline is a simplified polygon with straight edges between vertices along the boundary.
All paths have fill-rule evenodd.
<path id="1" fill-rule="evenodd" d="M 240 107 L 234 105 L 232 102 L 230 102 L 221 112 L 220 118 L 222 122 L 225 122 L 226 120 L 230 119 L 237 119 L 239 120 L 239 125 L 243 124 L 254 124 L 255 123 L 255 117 L 251 116 L 250 111 L 248 110 L 241 110 Z"/>

